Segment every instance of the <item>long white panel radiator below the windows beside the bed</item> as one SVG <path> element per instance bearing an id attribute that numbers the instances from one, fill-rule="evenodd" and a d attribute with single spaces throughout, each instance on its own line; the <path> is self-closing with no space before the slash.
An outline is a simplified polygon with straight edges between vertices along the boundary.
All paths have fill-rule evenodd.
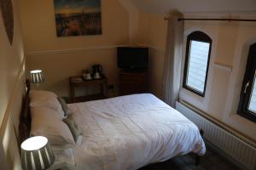
<path id="1" fill-rule="evenodd" d="M 236 161 L 236 164 L 242 168 L 256 169 L 256 149 L 253 143 L 242 140 L 232 130 L 226 130 L 219 127 L 217 122 L 209 121 L 204 116 L 192 111 L 186 105 L 176 102 L 176 109 L 183 116 L 189 118 L 197 127 L 204 130 L 204 139 L 214 147 L 218 148 L 230 161 Z M 238 162 L 238 163 L 237 163 Z"/>

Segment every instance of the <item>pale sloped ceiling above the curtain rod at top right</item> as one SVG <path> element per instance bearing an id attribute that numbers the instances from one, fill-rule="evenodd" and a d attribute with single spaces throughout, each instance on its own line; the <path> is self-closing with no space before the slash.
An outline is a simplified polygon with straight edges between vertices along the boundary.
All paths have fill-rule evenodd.
<path id="1" fill-rule="evenodd" d="M 148 13 L 255 13 L 256 0 L 131 0 Z"/>

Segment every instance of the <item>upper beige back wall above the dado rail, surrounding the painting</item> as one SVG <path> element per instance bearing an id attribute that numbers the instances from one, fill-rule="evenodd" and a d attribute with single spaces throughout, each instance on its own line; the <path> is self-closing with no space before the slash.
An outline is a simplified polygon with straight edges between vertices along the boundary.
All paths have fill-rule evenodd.
<path id="1" fill-rule="evenodd" d="M 102 35 L 56 37 L 52 0 L 20 0 L 26 53 L 122 45 L 129 42 L 129 14 L 119 0 L 102 1 Z"/>

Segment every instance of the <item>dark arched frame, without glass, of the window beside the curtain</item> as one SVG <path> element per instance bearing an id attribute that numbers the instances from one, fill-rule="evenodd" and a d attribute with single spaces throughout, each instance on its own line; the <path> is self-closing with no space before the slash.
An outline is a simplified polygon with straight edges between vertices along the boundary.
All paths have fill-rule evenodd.
<path id="1" fill-rule="evenodd" d="M 196 90 L 195 88 L 189 87 L 187 85 L 187 78 L 188 78 L 188 70 L 189 70 L 189 57 L 190 57 L 190 47 L 191 42 L 197 41 L 197 42 L 207 42 L 210 43 L 209 51 L 208 51 L 208 58 L 207 58 L 207 71 L 206 71 L 206 78 L 205 78 L 205 84 L 204 84 L 204 91 L 201 93 L 200 91 Z M 183 72 L 183 88 L 200 95 L 201 97 L 205 97 L 206 89 L 207 89 L 207 78 L 208 78 L 208 71 L 209 71 L 209 64 L 210 64 L 210 56 L 212 52 L 212 38 L 209 37 L 206 33 L 202 31 L 193 31 L 189 34 L 187 37 L 187 43 L 186 43 L 186 55 L 185 55 L 185 63 L 184 63 L 184 72 Z"/>

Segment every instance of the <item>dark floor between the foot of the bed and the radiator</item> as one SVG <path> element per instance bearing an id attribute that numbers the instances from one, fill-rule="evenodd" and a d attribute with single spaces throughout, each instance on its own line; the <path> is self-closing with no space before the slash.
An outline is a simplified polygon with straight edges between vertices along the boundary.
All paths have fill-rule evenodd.
<path id="1" fill-rule="evenodd" d="M 207 154 L 201 157 L 199 166 L 195 166 L 195 155 L 177 156 L 169 161 L 155 163 L 139 170 L 241 170 L 224 156 L 207 146 Z"/>

